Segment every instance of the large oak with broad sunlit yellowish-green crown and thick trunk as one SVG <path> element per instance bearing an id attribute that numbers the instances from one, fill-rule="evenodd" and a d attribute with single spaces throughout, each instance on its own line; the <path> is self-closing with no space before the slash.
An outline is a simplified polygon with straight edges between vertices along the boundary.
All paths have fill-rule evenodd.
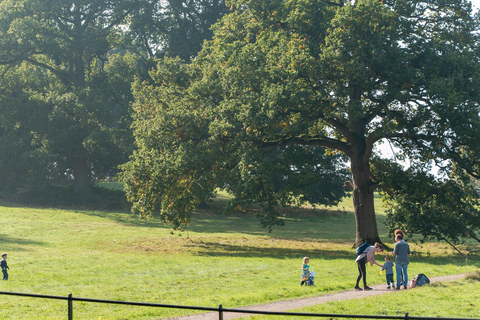
<path id="1" fill-rule="evenodd" d="M 379 181 L 370 171 L 380 140 L 390 140 L 412 161 L 451 159 L 478 173 L 480 42 L 468 2 L 229 4 L 233 12 L 215 26 L 213 40 L 181 77 L 190 78 L 181 90 L 158 76 L 156 87 L 136 88 L 136 139 L 139 146 L 151 141 L 125 167 L 136 209 L 148 213 L 160 202 L 170 217 L 185 215 L 178 213 L 191 206 L 181 192 L 175 199 L 164 194 L 189 190 L 188 203 L 196 201 L 197 191 L 211 183 L 197 174 L 204 168 L 200 157 L 212 176 L 248 175 L 253 183 L 242 196 L 255 199 L 258 186 L 265 191 L 269 185 L 248 168 L 268 171 L 250 159 L 266 150 L 323 147 L 349 158 L 360 243 L 380 240 L 373 205 Z M 175 98 L 179 93 L 182 98 Z M 140 129 L 147 120 L 149 128 Z M 164 138 L 160 128 L 175 133 Z M 189 147 L 197 145 L 204 150 L 191 154 Z M 160 155 L 169 161 L 152 162 Z M 185 180 L 165 179 L 178 170 L 176 161 L 187 158 Z M 182 181 L 196 187 L 182 187 Z"/>

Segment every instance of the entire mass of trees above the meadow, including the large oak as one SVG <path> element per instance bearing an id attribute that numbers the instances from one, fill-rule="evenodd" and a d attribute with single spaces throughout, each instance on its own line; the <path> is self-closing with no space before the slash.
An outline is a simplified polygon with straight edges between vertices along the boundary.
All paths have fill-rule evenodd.
<path id="1" fill-rule="evenodd" d="M 180 227 L 222 188 L 272 228 L 348 185 L 357 243 L 380 240 L 377 191 L 392 229 L 478 240 L 479 18 L 464 0 L 2 0 L 0 192 L 88 198 L 122 165 L 134 212 Z"/>

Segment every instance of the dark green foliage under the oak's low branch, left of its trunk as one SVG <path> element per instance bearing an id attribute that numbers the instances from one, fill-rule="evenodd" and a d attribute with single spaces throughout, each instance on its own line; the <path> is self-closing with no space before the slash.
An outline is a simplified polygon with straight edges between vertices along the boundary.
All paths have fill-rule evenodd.
<path id="1" fill-rule="evenodd" d="M 324 148 L 287 146 L 245 150 L 239 170 L 228 173 L 225 188 L 235 198 L 230 207 L 258 203 L 263 227 L 272 230 L 278 220 L 275 206 L 336 205 L 343 193 L 349 174 L 342 170 L 344 157 L 326 154 Z M 230 153 L 231 154 L 231 153 Z M 232 159 L 228 159 L 232 161 Z M 246 168 L 244 168 L 246 167 Z"/>

